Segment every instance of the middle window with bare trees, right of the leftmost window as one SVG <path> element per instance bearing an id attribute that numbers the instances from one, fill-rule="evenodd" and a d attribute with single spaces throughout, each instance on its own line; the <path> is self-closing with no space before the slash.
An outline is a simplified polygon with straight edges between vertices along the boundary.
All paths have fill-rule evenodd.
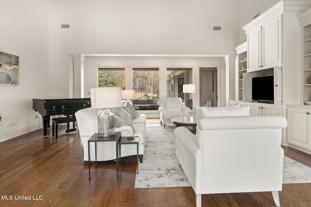
<path id="1" fill-rule="evenodd" d="M 159 98 L 159 68 L 133 68 L 136 99 Z"/>

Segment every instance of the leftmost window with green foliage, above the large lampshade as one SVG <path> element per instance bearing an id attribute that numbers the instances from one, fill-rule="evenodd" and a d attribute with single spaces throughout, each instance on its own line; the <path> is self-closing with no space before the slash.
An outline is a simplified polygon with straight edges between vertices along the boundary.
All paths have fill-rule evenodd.
<path id="1" fill-rule="evenodd" d="M 98 68 L 98 87 L 121 87 L 125 86 L 124 68 Z"/>

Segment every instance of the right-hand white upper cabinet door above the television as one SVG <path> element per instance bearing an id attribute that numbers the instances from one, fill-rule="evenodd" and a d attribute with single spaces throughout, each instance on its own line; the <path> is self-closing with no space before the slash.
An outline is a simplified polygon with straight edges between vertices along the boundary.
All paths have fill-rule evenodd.
<path id="1" fill-rule="evenodd" d="M 281 16 L 262 25 L 262 62 L 268 68 L 281 64 Z"/>

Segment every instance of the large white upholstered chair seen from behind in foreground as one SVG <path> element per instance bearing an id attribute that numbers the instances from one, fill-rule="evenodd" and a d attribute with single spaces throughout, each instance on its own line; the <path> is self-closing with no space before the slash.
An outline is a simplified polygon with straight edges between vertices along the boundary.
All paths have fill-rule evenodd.
<path id="1" fill-rule="evenodd" d="M 196 135 L 174 130 L 176 155 L 201 206 L 201 194 L 272 191 L 279 206 L 282 190 L 280 116 L 201 118 Z"/>

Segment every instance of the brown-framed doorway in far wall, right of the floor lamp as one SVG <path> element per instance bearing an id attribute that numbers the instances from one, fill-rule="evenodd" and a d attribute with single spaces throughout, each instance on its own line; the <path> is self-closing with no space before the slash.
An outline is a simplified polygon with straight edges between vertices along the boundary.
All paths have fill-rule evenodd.
<path id="1" fill-rule="evenodd" d="M 210 100 L 211 107 L 217 107 L 217 68 L 200 67 L 200 106 L 206 106 Z"/>

